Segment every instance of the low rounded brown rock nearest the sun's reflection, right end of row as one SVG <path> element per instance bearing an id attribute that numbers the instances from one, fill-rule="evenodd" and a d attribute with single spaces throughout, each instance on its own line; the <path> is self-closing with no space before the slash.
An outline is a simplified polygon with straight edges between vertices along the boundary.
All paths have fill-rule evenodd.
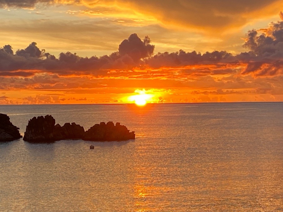
<path id="1" fill-rule="evenodd" d="M 100 122 L 95 124 L 84 134 L 83 140 L 88 141 L 124 141 L 135 139 L 135 132 L 130 132 L 124 125 L 119 122 L 116 126 L 113 122 Z"/>

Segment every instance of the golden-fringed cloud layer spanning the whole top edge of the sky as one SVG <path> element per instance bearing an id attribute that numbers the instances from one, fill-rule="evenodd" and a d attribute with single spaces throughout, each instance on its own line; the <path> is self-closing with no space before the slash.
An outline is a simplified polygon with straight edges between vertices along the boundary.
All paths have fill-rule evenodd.
<path id="1" fill-rule="evenodd" d="M 67 13 L 103 15 L 122 21 L 128 16 L 140 19 L 151 17 L 166 27 L 194 28 L 212 35 L 215 35 L 215 31 L 221 33 L 242 27 L 252 19 L 271 17 L 283 6 L 281 0 L 0 0 L 0 8 L 35 8 L 42 4 L 78 5 L 78 11 L 72 7 Z M 82 6 L 89 9 L 80 11 Z"/>

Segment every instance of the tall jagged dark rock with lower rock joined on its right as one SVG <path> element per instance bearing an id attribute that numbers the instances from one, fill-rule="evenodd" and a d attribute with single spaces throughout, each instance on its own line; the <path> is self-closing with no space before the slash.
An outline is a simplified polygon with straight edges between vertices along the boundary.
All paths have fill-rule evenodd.
<path id="1" fill-rule="evenodd" d="M 55 125 L 55 119 L 47 115 L 45 117 L 33 117 L 26 126 L 24 140 L 30 142 L 52 142 L 64 139 L 81 139 L 85 133 L 83 127 L 76 123 L 65 123 L 64 126 Z"/>

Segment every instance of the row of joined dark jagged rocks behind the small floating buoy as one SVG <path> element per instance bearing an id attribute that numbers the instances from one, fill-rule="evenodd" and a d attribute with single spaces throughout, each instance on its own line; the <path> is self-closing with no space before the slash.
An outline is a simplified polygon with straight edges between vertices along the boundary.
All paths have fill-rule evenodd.
<path id="1" fill-rule="evenodd" d="M 78 124 L 65 123 L 62 127 L 55 125 L 55 119 L 47 115 L 45 117 L 33 117 L 24 135 L 24 140 L 29 142 L 52 142 L 65 139 L 83 139 L 90 141 L 122 141 L 135 139 L 135 132 L 130 132 L 125 126 L 116 126 L 113 122 L 101 122 L 95 124 L 85 132 L 84 128 Z"/>

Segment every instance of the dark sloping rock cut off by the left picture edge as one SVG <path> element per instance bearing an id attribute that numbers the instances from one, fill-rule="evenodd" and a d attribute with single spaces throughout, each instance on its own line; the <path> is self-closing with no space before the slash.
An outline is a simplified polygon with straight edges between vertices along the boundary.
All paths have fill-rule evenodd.
<path id="1" fill-rule="evenodd" d="M 19 128 L 10 122 L 10 117 L 0 113 L 0 141 L 13 141 L 22 137 Z"/>

